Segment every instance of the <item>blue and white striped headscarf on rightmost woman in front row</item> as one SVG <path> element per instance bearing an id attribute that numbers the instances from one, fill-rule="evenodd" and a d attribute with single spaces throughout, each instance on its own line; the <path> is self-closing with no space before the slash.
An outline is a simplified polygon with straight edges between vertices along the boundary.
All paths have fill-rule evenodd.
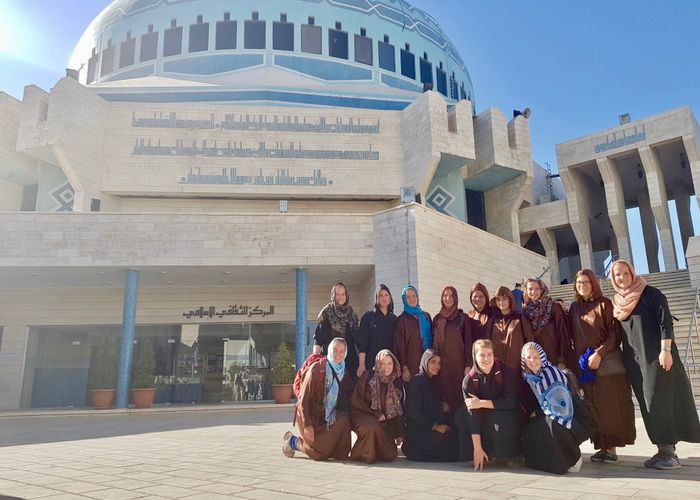
<path id="1" fill-rule="evenodd" d="M 540 355 L 542 366 L 539 373 L 532 373 L 525 364 L 525 356 L 533 349 Z M 523 378 L 535 394 L 544 414 L 559 425 L 571 429 L 574 401 L 564 372 L 547 360 L 547 354 L 537 342 L 528 342 L 523 346 L 520 351 L 520 366 Z"/>

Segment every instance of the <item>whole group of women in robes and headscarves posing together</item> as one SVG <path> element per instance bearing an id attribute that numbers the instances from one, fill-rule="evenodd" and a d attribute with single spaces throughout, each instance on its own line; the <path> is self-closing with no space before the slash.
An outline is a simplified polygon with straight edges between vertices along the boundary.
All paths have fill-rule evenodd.
<path id="1" fill-rule="evenodd" d="M 507 287 L 489 297 L 476 283 L 468 313 L 446 287 L 432 318 L 412 285 L 396 317 L 381 285 L 361 320 L 336 284 L 300 373 L 300 434 L 285 434 L 284 454 L 373 463 L 400 446 L 410 460 L 564 474 L 580 468 L 588 438 L 591 460 L 605 464 L 634 443 L 634 391 L 658 447 L 645 465 L 680 467 L 676 443 L 700 442 L 700 422 L 666 298 L 626 261 L 611 278 L 609 300 L 593 271 L 579 271 L 568 311 L 538 278 L 525 282 L 521 312 Z"/>

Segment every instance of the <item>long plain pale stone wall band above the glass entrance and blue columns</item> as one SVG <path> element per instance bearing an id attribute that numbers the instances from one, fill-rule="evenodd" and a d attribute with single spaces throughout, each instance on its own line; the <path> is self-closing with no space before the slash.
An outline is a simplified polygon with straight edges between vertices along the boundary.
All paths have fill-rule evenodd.
<path id="1" fill-rule="evenodd" d="M 372 265 L 369 215 L 0 214 L 2 266 Z"/>

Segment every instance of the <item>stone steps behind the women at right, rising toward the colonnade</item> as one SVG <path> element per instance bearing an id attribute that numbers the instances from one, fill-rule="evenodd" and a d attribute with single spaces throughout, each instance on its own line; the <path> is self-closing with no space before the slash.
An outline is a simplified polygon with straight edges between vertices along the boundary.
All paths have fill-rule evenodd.
<path id="1" fill-rule="evenodd" d="M 695 290 L 690 285 L 690 274 L 688 270 L 645 274 L 644 278 L 651 286 L 658 288 L 666 295 L 671 314 L 678 320 L 673 323 L 675 342 L 678 346 L 681 359 L 685 359 L 690 320 L 693 315 L 693 306 L 695 304 Z M 601 288 L 603 289 L 603 295 L 612 298 L 615 291 L 613 290 L 610 280 L 601 280 Z M 553 286 L 549 290 L 549 295 L 552 298 L 562 299 L 568 303 L 574 298 L 574 285 Z M 700 319 L 700 310 L 698 311 L 698 316 L 698 319 Z M 693 337 L 695 341 L 693 346 L 695 362 L 700 365 L 700 344 L 698 343 L 695 328 L 693 328 Z M 688 361 L 689 363 L 693 362 L 693 358 L 690 354 L 688 355 Z M 700 405 L 700 367 L 689 369 L 688 371 L 690 372 L 689 375 L 693 384 L 695 402 Z"/>

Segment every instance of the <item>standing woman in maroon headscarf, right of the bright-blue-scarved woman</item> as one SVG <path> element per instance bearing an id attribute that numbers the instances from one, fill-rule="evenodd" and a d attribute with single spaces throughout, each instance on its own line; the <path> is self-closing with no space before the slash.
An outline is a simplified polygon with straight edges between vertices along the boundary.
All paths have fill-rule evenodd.
<path id="1" fill-rule="evenodd" d="M 445 287 L 441 303 L 440 312 L 433 318 L 433 350 L 442 361 L 435 388 L 440 400 L 454 413 L 464 405 L 462 380 L 472 365 L 472 332 L 467 316 L 458 307 L 454 287 Z"/>

